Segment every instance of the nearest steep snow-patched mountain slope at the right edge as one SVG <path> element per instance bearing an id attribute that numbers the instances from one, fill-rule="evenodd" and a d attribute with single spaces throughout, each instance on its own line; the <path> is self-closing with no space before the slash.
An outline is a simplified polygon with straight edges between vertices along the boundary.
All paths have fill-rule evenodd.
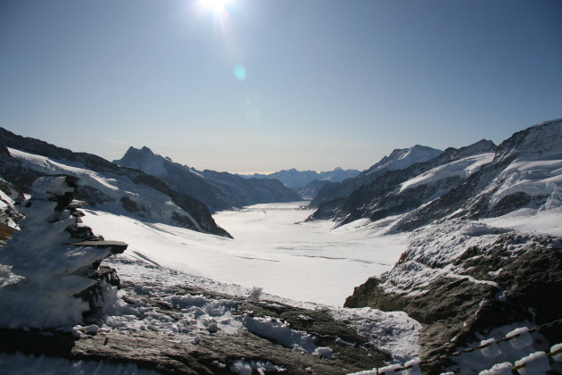
<path id="1" fill-rule="evenodd" d="M 519 209 L 562 207 L 562 119 L 519 131 L 498 146 L 492 162 L 431 204 L 401 220 L 418 228 L 443 217 L 489 218 Z"/>

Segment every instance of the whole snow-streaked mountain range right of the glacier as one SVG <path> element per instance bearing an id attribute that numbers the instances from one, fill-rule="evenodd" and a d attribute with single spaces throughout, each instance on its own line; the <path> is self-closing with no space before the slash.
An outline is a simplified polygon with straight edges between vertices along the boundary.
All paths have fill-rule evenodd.
<path id="1" fill-rule="evenodd" d="M 443 218 L 496 217 L 521 208 L 562 205 L 562 120 L 519 131 L 494 146 L 482 140 L 448 148 L 427 162 L 384 175 L 351 196 L 320 204 L 310 219 L 341 224 L 402 215 L 393 229 Z"/>

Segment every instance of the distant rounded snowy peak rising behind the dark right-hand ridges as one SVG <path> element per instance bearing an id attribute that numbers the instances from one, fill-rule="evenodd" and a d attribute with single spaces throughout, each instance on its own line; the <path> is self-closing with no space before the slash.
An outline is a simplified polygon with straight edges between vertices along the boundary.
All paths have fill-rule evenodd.
<path id="1" fill-rule="evenodd" d="M 397 171 L 408 168 L 417 162 L 426 162 L 442 154 L 442 150 L 428 146 L 412 146 L 395 149 L 390 155 L 384 156 L 380 162 L 363 171 L 361 176 L 368 176 L 380 171 Z"/>

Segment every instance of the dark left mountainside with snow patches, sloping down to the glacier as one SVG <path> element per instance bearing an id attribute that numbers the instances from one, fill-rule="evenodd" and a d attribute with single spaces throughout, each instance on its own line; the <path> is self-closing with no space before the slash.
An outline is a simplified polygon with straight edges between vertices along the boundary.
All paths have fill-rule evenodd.
<path id="1" fill-rule="evenodd" d="M 230 237 L 205 204 L 171 189 L 161 179 L 94 154 L 74 153 L 0 128 L 3 179 L 29 194 L 38 177 L 59 174 L 78 177 L 77 199 L 102 210 Z"/>

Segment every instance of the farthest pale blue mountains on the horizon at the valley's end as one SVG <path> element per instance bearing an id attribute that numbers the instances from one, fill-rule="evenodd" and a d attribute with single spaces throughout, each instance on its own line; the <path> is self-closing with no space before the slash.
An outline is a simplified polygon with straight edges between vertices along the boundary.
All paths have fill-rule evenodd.
<path id="1" fill-rule="evenodd" d="M 293 189 L 306 187 L 314 180 L 339 182 L 344 179 L 350 179 L 360 174 L 357 170 L 343 170 L 335 168 L 334 171 L 297 171 L 294 168 L 290 170 L 277 171 L 270 174 L 254 173 L 252 175 L 240 175 L 244 179 L 278 179 L 285 185 Z"/>

